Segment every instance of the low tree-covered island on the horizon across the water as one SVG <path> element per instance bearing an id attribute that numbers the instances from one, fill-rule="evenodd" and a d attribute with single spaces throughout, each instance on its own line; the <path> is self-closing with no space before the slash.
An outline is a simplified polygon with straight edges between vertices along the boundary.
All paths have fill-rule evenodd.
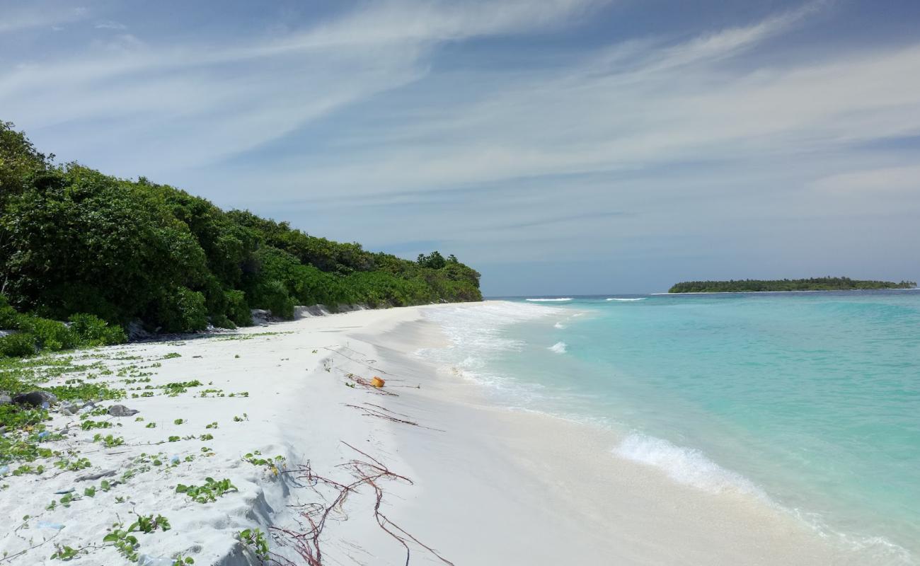
<path id="1" fill-rule="evenodd" d="M 743 279 L 739 281 L 685 281 L 668 289 L 668 293 L 757 293 L 761 291 L 853 291 L 865 289 L 914 289 L 913 281 L 860 281 L 849 277 L 812 277 L 811 279 Z"/>

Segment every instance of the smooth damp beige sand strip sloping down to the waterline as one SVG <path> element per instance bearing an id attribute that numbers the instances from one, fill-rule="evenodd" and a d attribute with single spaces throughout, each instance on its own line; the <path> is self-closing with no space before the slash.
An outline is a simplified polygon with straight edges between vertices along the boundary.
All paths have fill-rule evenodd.
<path id="1" fill-rule="evenodd" d="M 437 372 L 431 387 L 420 391 L 427 398 L 424 403 L 409 404 L 402 410 L 439 403 L 448 407 L 440 406 L 441 414 L 451 409 L 460 412 L 456 420 L 476 425 L 452 433 L 456 445 L 470 446 L 477 438 L 490 437 L 489 445 L 477 446 L 468 457 L 489 453 L 490 461 L 506 473 L 514 470 L 516 479 L 502 486 L 505 496 L 523 502 L 540 494 L 542 507 L 526 513 L 513 509 L 503 515 L 495 525 L 501 537 L 501 526 L 511 520 L 529 524 L 536 532 L 555 531 L 560 540 L 567 541 L 557 547 L 544 546 L 534 556 L 509 555 L 502 561 L 491 555 L 473 555 L 465 556 L 464 563 L 858 563 L 855 557 L 827 545 L 811 527 L 752 493 L 700 491 L 669 478 L 661 468 L 616 456 L 613 450 L 622 440 L 619 433 L 537 410 L 495 406 L 485 398 L 483 386 L 412 355 L 411 343 L 399 334 L 406 332 L 410 339 L 419 332 L 412 328 L 415 325 L 431 328 L 432 323 L 406 322 L 375 340 L 382 358 L 401 364 L 402 371 L 412 371 L 415 365 L 421 371 Z M 412 452 L 411 440 L 403 442 L 403 453 Z M 423 469 L 422 477 L 443 474 L 443 469 L 432 464 L 437 458 L 412 453 L 407 460 L 430 464 L 431 471 L 424 473 Z M 454 489 L 443 489 L 443 493 L 446 496 Z M 500 541 L 491 543 L 497 552 Z M 575 557 L 573 549 L 583 554 Z"/>

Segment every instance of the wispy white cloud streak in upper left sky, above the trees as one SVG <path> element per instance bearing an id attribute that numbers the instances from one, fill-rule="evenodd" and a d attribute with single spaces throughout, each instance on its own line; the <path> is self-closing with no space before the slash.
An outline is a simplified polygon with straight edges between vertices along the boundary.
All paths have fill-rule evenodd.
<path id="1" fill-rule="evenodd" d="M 74 59 L 0 75 L 0 105 L 33 132 L 108 122 L 105 138 L 78 133 L 69 142 L 86 159 L 131 140 L 133 152 L 118 142 L 122 174 L 148 164 L 153 151 L 165 168 L 190 167 L 418 80 L 439 41 L 560 25 L 599 3 L 389 2 L 282 38 L 216 46 L 162 47 L 121 34 Z M 66 96 L 55 88 L 62 83 Z M 67 135 L 61 138 L 58 153 L 70 155 Z"/>

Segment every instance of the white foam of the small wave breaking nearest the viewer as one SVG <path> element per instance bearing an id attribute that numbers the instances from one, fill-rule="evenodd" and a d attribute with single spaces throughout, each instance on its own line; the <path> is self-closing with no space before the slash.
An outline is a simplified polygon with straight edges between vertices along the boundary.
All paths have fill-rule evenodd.
<path id="1" fill-rule="evenodd" d="M 702 491 L 737 491 L 766 498 L 764 492 L 750 479 L 722 468 L 695 448 L 676 446 L 661 438 L 629 434 L 614 449 L 614 454 L 661 468 L 674 481 Z"/>

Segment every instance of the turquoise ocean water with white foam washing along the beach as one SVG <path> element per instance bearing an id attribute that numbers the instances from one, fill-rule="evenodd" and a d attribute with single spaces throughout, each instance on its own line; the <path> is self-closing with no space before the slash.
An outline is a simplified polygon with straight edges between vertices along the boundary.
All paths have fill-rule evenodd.
<path id="1" fill-rule="evenodd" d="M 504 406 L 611 428 L 613 454 L 674 481 L 762 498 L 857 561 L 918 563 L 920 292 L 559 298 L 432 309 L 452 346 L 420 355 Z"/>

